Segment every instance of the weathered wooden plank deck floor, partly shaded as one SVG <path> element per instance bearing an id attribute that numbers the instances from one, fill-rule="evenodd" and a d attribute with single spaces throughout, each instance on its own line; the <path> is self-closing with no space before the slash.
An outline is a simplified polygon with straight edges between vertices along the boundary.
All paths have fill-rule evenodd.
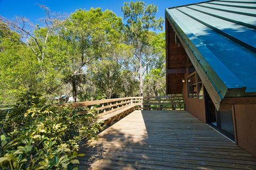
<path id="1" fill-rule="evenodd" d="M 81 147 L 79 169 L 256 169 L 255 157 L 186 111 L 134 111 L 96 144 Z"/>

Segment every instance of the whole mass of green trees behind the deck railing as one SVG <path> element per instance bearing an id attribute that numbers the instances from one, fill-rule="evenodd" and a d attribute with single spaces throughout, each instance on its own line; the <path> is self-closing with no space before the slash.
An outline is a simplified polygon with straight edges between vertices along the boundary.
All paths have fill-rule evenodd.
<path id="1" fill-rule="evenodd" d="M 80 101 L 150 93 L 154 83 L 147 77 L 163 70 L 165 60 L 165 35 L 153 31 L 163 24 L 157 6 L 124 3 L 123 19 L 101 8 L 58 18 L 41 7 L 46 16 L 40 26 L 0 18 L 0 107 L 11 107 L 26 91 Z M 103 86 L 98 80 L 107 80 L 107 67 L 115 74 Z"/>

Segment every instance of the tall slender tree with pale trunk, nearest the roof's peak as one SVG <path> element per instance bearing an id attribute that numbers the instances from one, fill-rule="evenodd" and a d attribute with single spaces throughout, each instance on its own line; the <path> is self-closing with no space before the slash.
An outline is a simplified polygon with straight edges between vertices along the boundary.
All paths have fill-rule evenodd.
<path id="1" fill-rule="evenodd" d="M 162 30 L 163 19 L 156 19 L 155 15 L 157 12 L 157 6 L 154 4 L 145 5 L 144 2 L 125 2 L 122 7 L 122 11 L 124 14 L 124 20 L 126 21 L 124 25 L 126 43 L 132 46 L 133 56 L 139 63 L 139 93 L 140 96 L 142 96 L 142 64 L 144 63 L 144 65 L 146 65 L 150 61 L 145 61 L 147 58 L 147 46 L 149 45 L 149 30 Z"/>

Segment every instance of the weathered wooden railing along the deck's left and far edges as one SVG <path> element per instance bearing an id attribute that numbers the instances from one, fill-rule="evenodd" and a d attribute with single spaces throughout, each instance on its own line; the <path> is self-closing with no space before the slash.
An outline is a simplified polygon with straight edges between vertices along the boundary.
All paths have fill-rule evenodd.
<path id="1" fill-rule="evenodd" d="M 88 109 L 96 109 L 98 112 L 98 122 L 112 124 L 113 121 L 131 113 L 134 109 L 144 110 L 185 110 L 183 97 L 176 96 L 157 96 L 157 97 L 125 97 L 116 99 L 104 99 L 93 101 L 82 101 L 70 104 L 72 107 L 87 107 Z M 81 111 L 81 114 L 86 114 L 88 111 Z"/>

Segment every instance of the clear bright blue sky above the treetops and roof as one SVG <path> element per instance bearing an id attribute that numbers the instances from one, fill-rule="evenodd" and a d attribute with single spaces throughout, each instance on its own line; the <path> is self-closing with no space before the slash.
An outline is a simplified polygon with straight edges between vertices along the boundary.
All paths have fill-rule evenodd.
<path id="1" fill-rule="evenodd" d="M 72 13 L 79 8 L 89 10 L 91 7 L 101 7 L 103 10 L 109 9 L 118 16 L 123 16 L 121 6 L 123 6 L 124 2 L 130 2 L 130 0 L 0 0 L 0 15 L 9 20 L 15 16 L 25 16 L 32 22 L 39 23 L 38 19 L 44 16 L 44 12 L 36 4 L 42 4 L 50 7 L 53 12 L 59 13 Z M 157 5 L 157 16 L 164 18 L 164 9 L 167 7 L 202 2 L 202 0 L 146 0 L 144 2 Z"/>

